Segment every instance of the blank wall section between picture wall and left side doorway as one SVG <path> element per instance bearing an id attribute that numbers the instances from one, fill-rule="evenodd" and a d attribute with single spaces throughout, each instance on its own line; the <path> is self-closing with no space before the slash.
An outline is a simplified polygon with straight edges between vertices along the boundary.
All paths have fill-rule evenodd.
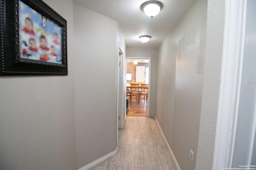
<path id="1" fill-rule="evenodd" d="M 76 167 L 117 147 L 117 21 L 74 4 Z"/>

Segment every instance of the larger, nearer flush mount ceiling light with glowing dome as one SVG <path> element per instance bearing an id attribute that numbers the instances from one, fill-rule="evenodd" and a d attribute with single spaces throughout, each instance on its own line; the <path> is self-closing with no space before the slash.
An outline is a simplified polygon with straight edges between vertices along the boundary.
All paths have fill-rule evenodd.
<path id="1" fill-rule="evenodd" d="M 147 16 L 150 16 L 153 18 L 156 16 L 160 10 L 162 9 L 163 5 L 158 2 L 158 1 L 147 1 L 144 2 L 141 6 L 140 9 L 145 12 Z"/>

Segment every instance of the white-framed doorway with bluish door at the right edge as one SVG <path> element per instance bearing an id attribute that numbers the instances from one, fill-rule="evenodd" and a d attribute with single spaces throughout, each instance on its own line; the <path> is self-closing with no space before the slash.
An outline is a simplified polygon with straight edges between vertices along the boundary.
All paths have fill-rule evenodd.
<path id="1" fill-rule="evenodd" d="M 254 0 L 226 1 L 212 169 L 250 169 L 256 164 L 255 14 Z"/>

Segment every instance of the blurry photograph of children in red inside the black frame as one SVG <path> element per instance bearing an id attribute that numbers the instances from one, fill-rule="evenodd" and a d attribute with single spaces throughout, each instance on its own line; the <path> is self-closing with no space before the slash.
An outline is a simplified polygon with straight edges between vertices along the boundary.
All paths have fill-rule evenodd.
<path id="1" fill-rule="evenodd" d="M 62 64 L 62 29 L 19 0 L 20 58 Z"/>

